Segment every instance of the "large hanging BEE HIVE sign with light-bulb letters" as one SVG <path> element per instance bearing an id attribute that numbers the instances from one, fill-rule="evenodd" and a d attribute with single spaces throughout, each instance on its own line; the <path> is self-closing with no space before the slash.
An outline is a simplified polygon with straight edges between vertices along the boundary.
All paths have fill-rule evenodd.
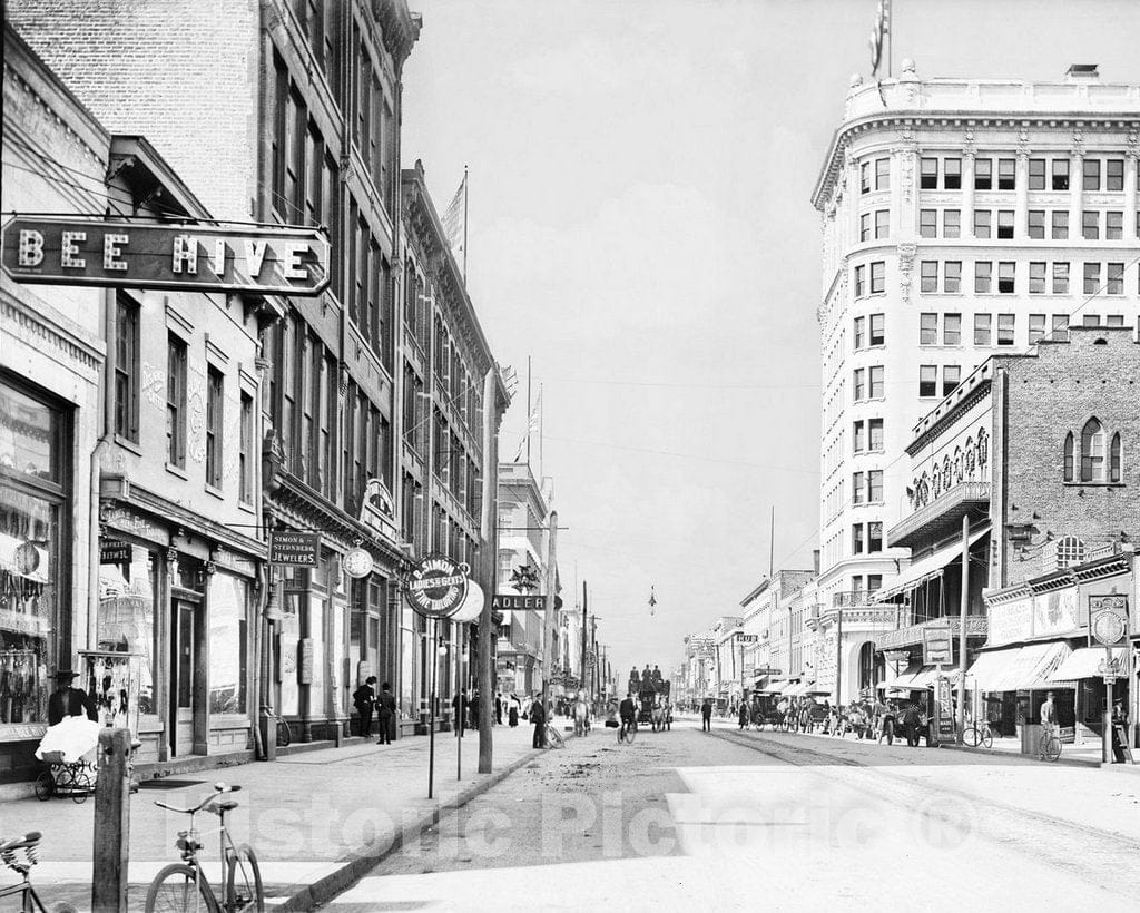
<path id="1" fill-rule="evenodd" d="M 317 228 L 17 217 L 2 243 L 19 283 L 302 297 L 328 285 L 328 239 Z"/>

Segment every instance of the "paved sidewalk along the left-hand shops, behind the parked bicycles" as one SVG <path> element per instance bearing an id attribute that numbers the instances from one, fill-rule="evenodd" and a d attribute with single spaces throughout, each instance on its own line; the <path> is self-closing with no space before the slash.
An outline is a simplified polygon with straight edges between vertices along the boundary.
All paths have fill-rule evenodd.
<path id="1" fill-rule="evenodd" d="M 141 907 L 150 879 L 168 863 L 178 862 L 174 840 L 187 826 L 187 815 L 156 808 L 155 799 L 185 807 L 196 805 L 219 780 L 241 785 L 234 794 L 241 805 L 230 816 L 230 829 L 236 842 L 249 842 L 256 853 L 267 907 L 308 910 L 343 890 L 402 840 L 414 839 L 441 809 L 464 805 L 536 757 L 532 732 L 529 726 L 496 726 L 489 775 L 475 773 L 479 734 L 469 732 L 463 739 L 462 781 L 456 779 L 458 740 L 454 733 L 437 733 L 432 800 L 427 799 L 427 736 L 391 745 L 328 748 L 272 764 L 150 781 L 160 788 L 145 788 L 131 800 L 131 908 Z M 5 837 L 31 830 L 43 833 L 32 881 L 49 908 L 62 902 L 79 910 L 90 906 L 93 810 L 93 798 L 83 805 L 34 798 L 0 804 Z M 195 829 L 206 847 L 201 856 L 206 875 L 218 889 L 217 818 L 198 815 Z M 0 885 L 11 875 L 0 871 Z"/>

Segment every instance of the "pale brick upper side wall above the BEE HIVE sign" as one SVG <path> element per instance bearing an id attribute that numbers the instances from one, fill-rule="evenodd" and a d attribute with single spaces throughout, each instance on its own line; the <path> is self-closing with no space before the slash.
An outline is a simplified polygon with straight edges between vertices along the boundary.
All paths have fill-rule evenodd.
<path id="1" fill-rule="evenodd" d="M 8 0 L 6 7 L 21 36 L 108 130 L 146 136 L 215 218 L 251 217 L 256 0 Z"/>

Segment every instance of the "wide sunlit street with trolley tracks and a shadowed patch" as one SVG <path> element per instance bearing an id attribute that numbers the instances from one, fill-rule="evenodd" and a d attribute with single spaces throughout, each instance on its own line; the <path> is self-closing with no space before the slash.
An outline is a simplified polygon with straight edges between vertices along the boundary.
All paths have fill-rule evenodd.
<path id="1" fill-rule="evenodd" d="M 678 722 L 547 752 L 325 910 L 1073 910 L 1140 891 L 1140 777 Z M 613 891 L 608 894 L 608 891 Z M 620 891 L 620 895 L 618 894 Z M 809 898 L 809 899 L 805 899 Z"/>

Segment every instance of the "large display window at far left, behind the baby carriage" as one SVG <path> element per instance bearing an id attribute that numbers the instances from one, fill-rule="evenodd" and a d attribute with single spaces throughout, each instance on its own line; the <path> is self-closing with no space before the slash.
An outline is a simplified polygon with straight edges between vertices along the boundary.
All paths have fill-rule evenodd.
<path id="1" fill-rule="evenodd" d="M 62 410 L 0 382 L 0 727 L 47 720 L 66 629 L 63 429 Z"/>

